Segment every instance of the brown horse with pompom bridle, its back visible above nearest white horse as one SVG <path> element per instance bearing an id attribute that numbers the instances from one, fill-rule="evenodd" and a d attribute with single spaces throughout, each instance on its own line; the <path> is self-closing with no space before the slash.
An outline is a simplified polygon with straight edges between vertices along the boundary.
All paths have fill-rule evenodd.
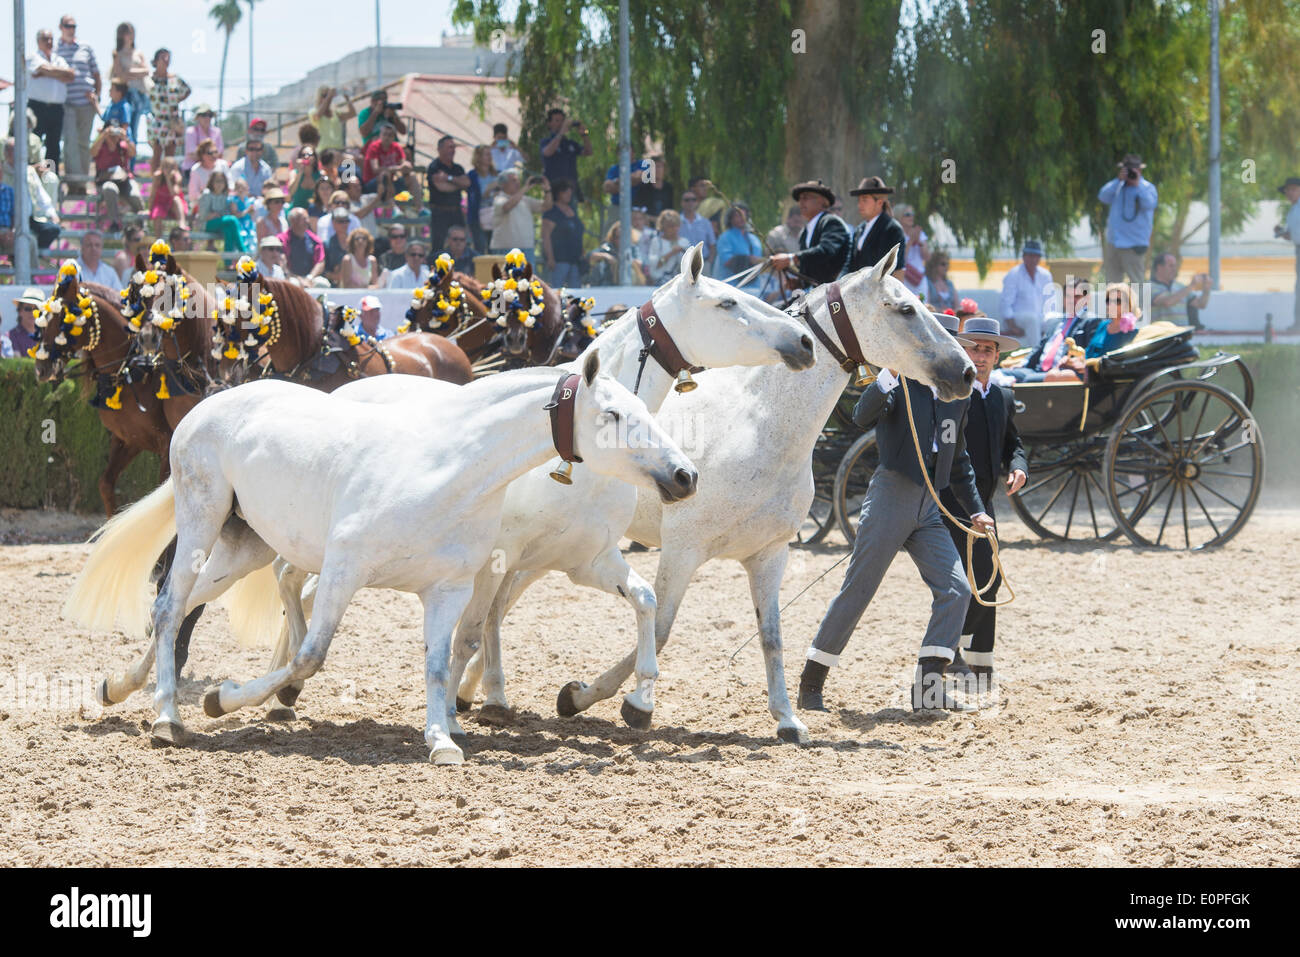
<path id="1" fill-rule="evenodd" d="M 242 321 L 238 309 L 226 309 L 224 315 L 228 319 L 218 320 L 225 322 L 228 330 L 226 358 L 238 352 L 231 345 L 231 335 L 238 335 L 233 330 L 248 333 L 242 358 L 246 374 L 273 374 L 326 393 L 355 378 L 387 372 L 441 378 L 456 385 L 473 378 L 464 350 L 441 335 L 407 333 L 382 342 L 361 339 L 358 343 L 335 338 L 330 333 L 337 330 L 326 322 L 324 307 L 286 280 L 263 276 L 254 282 L 240 282 L 229 296 L 235 299 L 233 306 L 239 304 L 237 295 L 250 303 L 259 295 L 269 295 L 265 304 L 259 304 L 273 307 L 273 317 L 269 312 L 264 313 L 268 321 L 260 328 L 244 329 L 256 324 Z M 254 373 L 254 365 L 260 365 L 261 372 Z"/>

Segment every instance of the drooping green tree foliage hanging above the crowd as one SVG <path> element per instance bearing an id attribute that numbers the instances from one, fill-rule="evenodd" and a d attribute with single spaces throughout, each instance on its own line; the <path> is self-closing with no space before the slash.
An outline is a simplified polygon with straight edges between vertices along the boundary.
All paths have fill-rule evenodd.
<path id="1" fill-rule="evenodd" d="M 841 194 L 883 174 L 937 213 L 982 268 L 1031 235 L 1062 248 L 1130 151 L 1161 191 L 1157 242 L 1182 241 L 1208 182 L 1208 0 L 630 0 L 633 152 L 707 174 L 772 221 L 790 179 Z M 480 42 L 523 38 L 521 146 L 566 105 L 599 135 L 584 187 L 618 161 L 616 0 L 458 0 Z M 794 31 L 806 34 L 796 52 Z M 1223 225 L 1273 198 L 1300 103 L 1300 0 L 1222 14 Z M 1243 182 L 1253 159 L 1260 182 Z M 945 177 L 945 173 L 948 176 Z M 953 178 L 956 174 L 956 178 Z M 1280 179 L 1278 179 L 1280 181 Z M 897 198 L 897 196 L 896 196 Z"/>

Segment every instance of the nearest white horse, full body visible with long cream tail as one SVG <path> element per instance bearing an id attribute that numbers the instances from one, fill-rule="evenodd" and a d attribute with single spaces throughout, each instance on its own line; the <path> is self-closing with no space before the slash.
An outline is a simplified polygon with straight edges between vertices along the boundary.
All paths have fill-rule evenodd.
<path id="1" fill-rule="evenodd" d="M 572 452 L 584 468 L 655 488 L 664 501 L 694 493 L 698 475 L 690 460 L 640 399 L 608 376 L 597 377 L 598 371 L 592 355 L 581 374 L 502 373 L 437 390 L 434 402 L 412 399 L 400 416 L 278 381 L 202 402 L 172 439 L 172 478 L 104 527 L 65 607 L 88 627 L 110 627 L 116 609 L 139 601 L 173 533 L 177 554 L 195 558 L 173 563 L 153 603 L 153 642 L 135 668 L 105 681 L 105 700 L 121 701 L 139 688 L 156 653 L 151 733 L 178 744 L 185 735 L 176 702 L 181 619 L 278 553 L 320 576 L 303 645 L 263 677 L 208 692 L 204 710 L 216 715 L 257 705 L 303 681 L 324 663 L 356 590 L 395 588 L 424 605 L 429 757 L 460 763 L 464 755 L 448 735 L 451 635 L 500 527 L 506 486 L 554 455 L 547 399 L 560 399 L 559 434 L 571 416 Z M 646 443 L 620 449 L 599 441 L 615 421 L 633 423 Z"/>

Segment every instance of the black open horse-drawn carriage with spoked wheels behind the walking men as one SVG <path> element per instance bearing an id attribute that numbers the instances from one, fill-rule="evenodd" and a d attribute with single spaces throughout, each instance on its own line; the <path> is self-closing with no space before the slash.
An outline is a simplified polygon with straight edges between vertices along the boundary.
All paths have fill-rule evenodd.
<path id="1" fill-rule="evenodd" d="M 1242 529 L 1264 481 L 1254 382 L 1240 356 L 1200 359 L 1191 337 L 1174 328 L 1089 360 L 1087 381 L 1015 385 L 1030 480 L 1011 507 L 1030 529 L 1184 549 L 1222 545 Z M 879 464 L 875 433 L 853 425 L 854 402 L 846 391 L 814 452 L 803 544 L 835 524 L 853 541 Z"/>

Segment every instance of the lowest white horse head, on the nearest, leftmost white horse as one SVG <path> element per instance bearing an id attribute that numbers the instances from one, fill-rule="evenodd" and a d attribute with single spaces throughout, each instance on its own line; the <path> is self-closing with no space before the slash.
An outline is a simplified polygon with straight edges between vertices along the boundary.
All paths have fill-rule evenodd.
<path id="1" fill-rule="evenodd" d="M 694 464 L 641 399 L 599 371 L 599 354 L 588 352 L 573 397 L 575 455 L 598 475 L 655 489 L 666 503 L 693 495 Z"/>

